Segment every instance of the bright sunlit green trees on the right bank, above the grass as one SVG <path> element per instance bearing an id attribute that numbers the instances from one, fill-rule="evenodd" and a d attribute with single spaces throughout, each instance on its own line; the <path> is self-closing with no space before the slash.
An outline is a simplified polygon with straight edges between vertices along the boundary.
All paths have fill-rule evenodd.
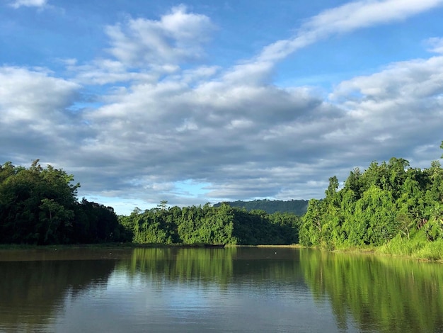
<path id="1" fill-rule="evenodd" d="M 442 146 L 443 148 L 443 142 Z M 427 242 L 443 239 L 443 169 L 409 166 L 405 159 L 372 162 L 354 169 L 343 188 L 329 179 L 326 198 L 311 200 L 302 218 L 300 243 L 306 246 L 381 246 L 393 237 L 424 235 Z"/>

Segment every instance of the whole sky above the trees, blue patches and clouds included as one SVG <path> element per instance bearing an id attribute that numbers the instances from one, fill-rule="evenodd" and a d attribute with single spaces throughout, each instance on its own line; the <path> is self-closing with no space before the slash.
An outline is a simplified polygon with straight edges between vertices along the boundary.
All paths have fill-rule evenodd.
<path id="1" fill-rule="evenodd" d="M 443 0 L 0 0 L 0 164 L 134 208 L 323 198 L 443 140 Z"/>

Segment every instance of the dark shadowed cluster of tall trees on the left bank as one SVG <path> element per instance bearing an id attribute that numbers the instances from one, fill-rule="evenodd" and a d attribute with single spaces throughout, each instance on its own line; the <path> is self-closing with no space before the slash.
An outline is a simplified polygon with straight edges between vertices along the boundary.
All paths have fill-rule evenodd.
<path id="1" fill-rule="evenodd" d="M 0 166 L 0 243 L 71 244 L 122 239 L 113 208 L 83 199 L 74 176 L 35 160 Z"/>

